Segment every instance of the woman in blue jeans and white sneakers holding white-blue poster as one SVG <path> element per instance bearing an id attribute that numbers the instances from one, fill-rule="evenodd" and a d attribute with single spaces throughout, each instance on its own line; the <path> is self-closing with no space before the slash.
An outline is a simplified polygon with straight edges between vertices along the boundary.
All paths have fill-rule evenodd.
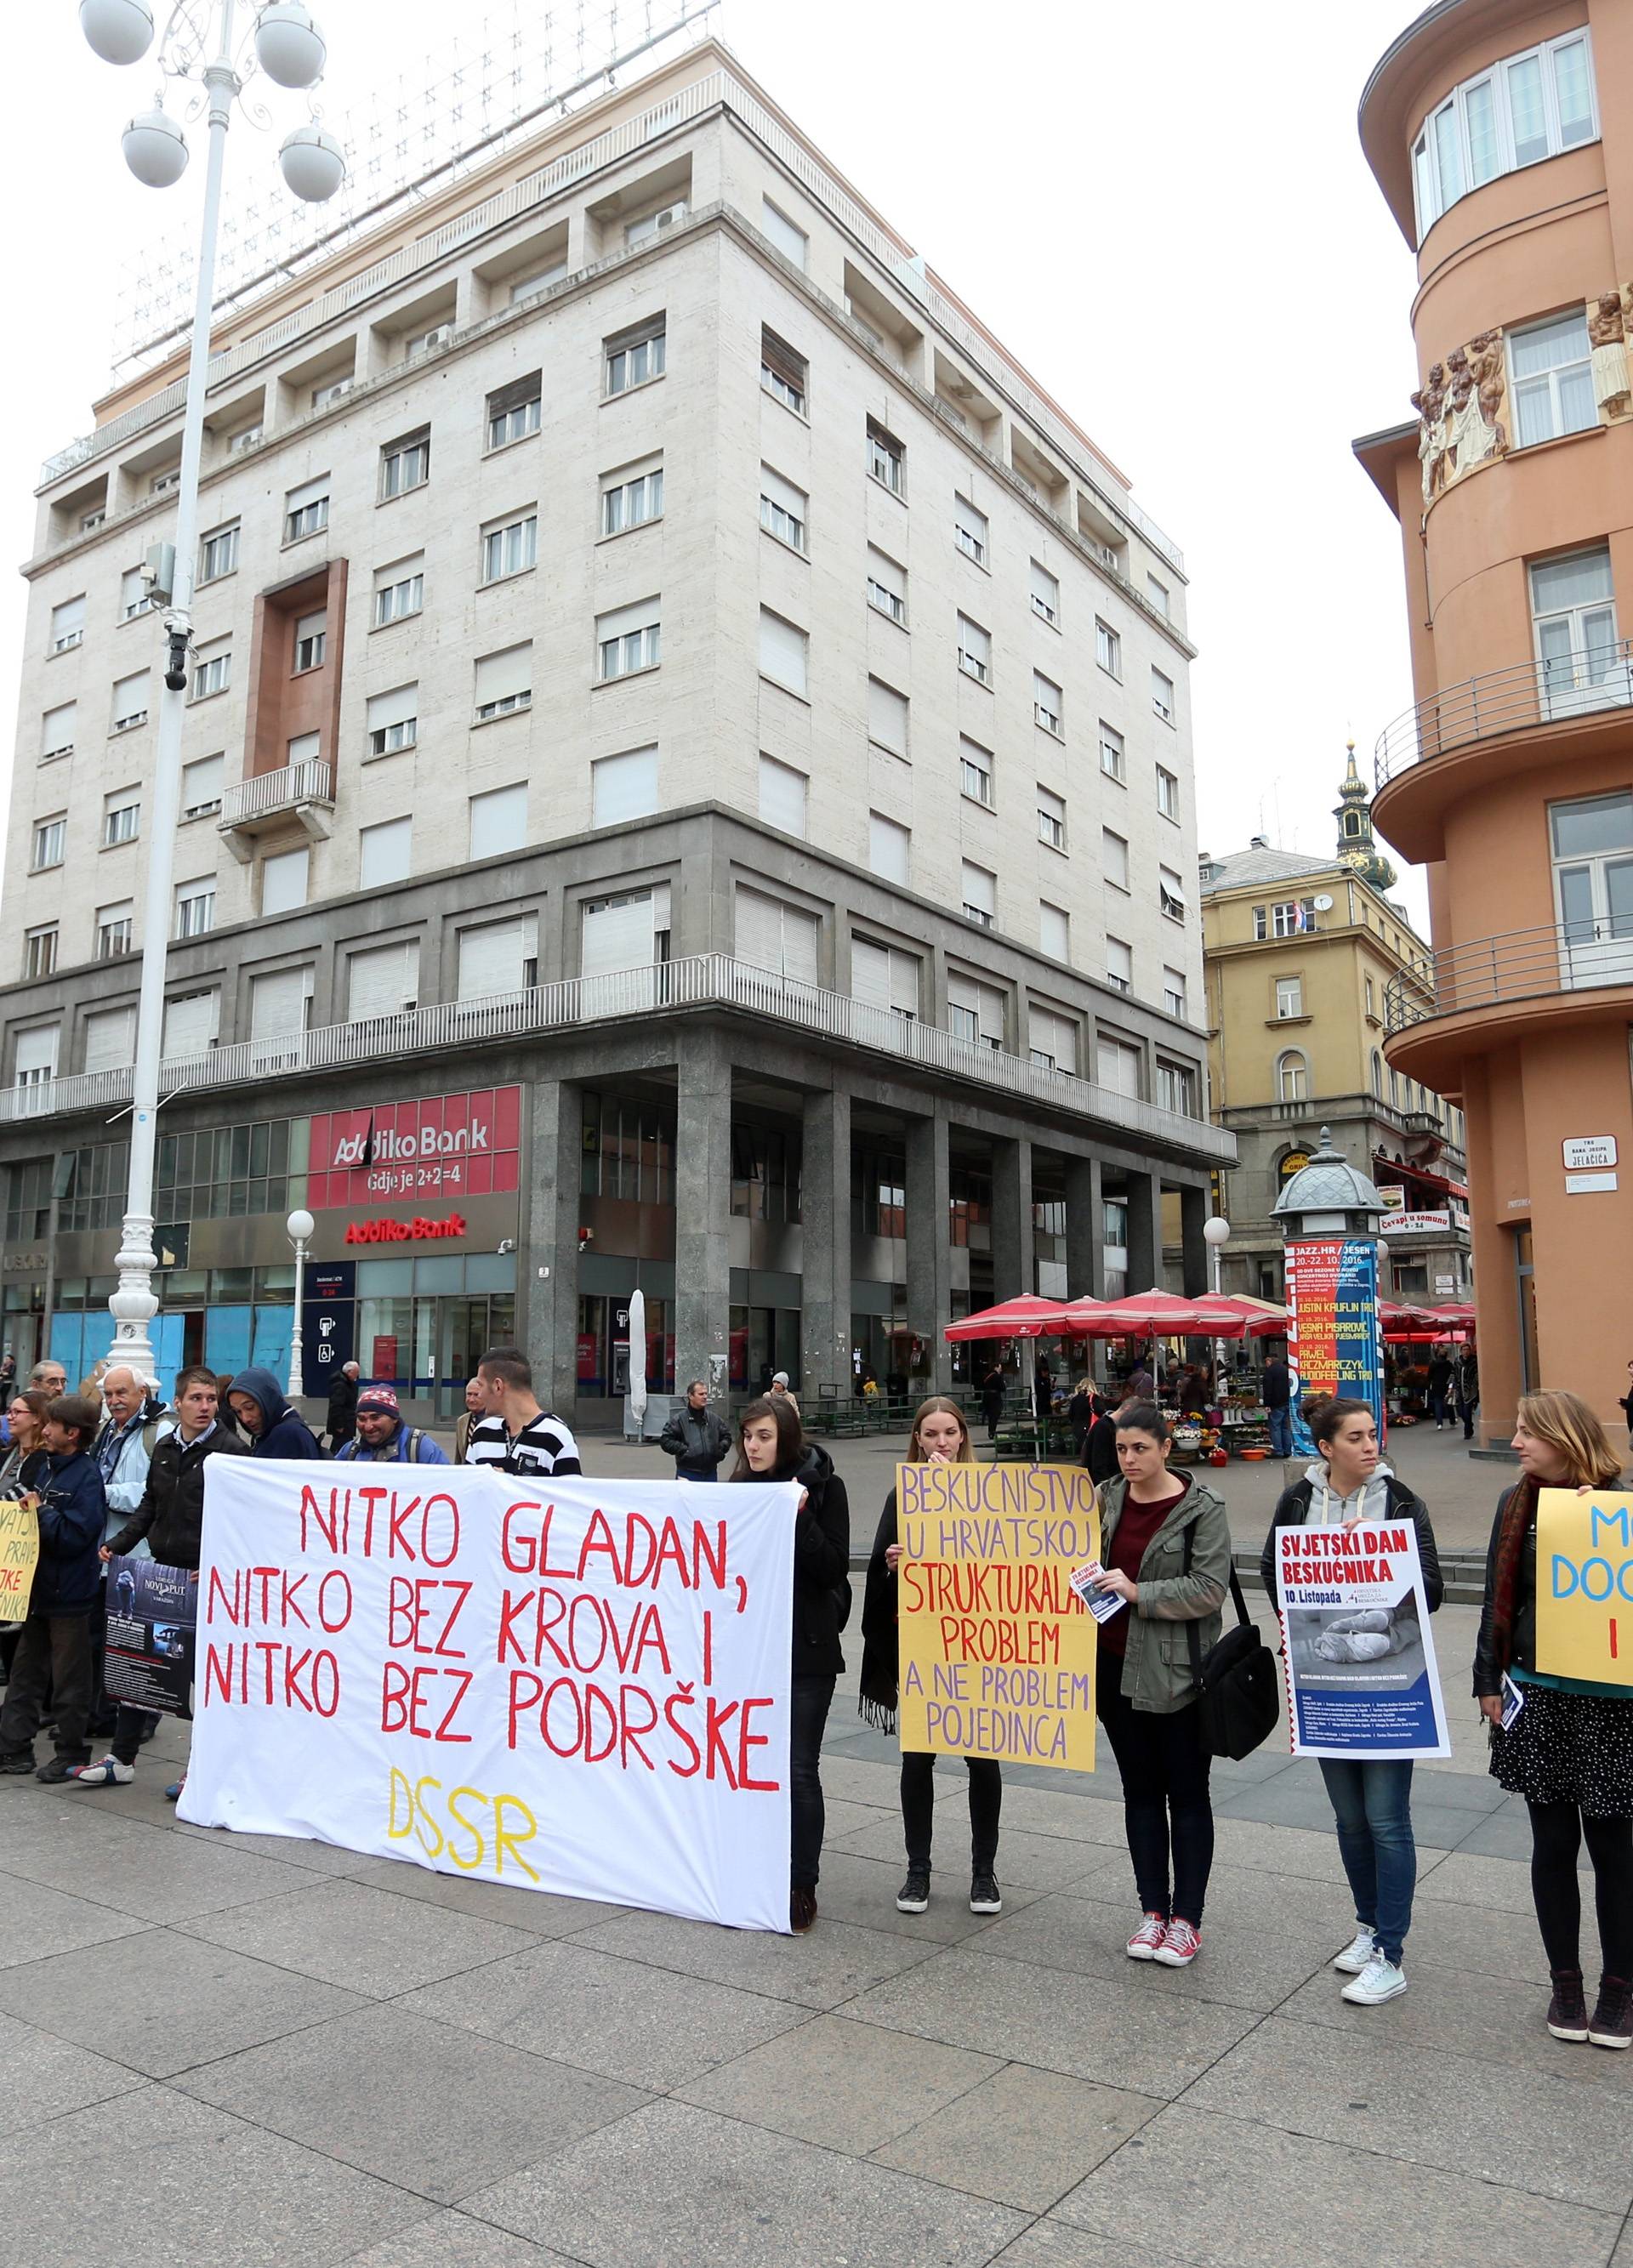
<path id="1" fill-rule="evenodd" d="M 1318 1463 L 1286 1490 L 1266 1535 L 1259 1572 L 1277 1613 L 1275 1531 L 1295 1526 L 1356 1529 L 1381 1526 L 1386 1520 L 1411 1520 L 1418 1529 L 1429 1613 L 1440 1606 L 1440 1558 L 1436 1554 L 1429 1510 L 1379 1456 L 1372 1408 L 1365 1402 L 1306 1402 L 1304 1422 L 1315 1440 Z M 1418 1844 L 1411 1830 L 1411 1758 L 1320 1760 L 1322 1780 L 1338 1823 L 1338 1851 L 1349 1876 L 1356 1910 L 1356 1935 L 1334 1969 L 1347 1975 L 1345 2000 L 1377 2007 L 1406 1991 L 1402 1969 L 1406 1930 L 1411 1928 L 1413 1892 L 1418 1887 Z"/>

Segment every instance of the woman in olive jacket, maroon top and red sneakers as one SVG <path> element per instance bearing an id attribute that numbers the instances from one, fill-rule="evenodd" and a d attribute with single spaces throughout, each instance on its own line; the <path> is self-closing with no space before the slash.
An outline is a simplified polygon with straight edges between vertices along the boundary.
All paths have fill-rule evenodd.
<path id="1" fill-rule="evenodd" d="M 1154 1402 L 1125 1402 L 1116 1436 L 1120 1472 L 1100 1490 L 1102 1572 L 1093 1588 L 1127 1601 L 1127 1610 L 1100 1624 L 1095 1703 L 1123 1774 L 1141 1901 L 1127 1955 L 1188 1969 L 1202 1950 L 1213 1869 L 1211 1755 L 1202 1746 L 1193 1660 L 1218 1644 L 1229 1517 L 1207 1481 L 1168 1470 L 1168 1420 Z M 1173 1628 L 1182 1622 L 1198 1626 L 1195 1656 L 1188 1633 Z"/>

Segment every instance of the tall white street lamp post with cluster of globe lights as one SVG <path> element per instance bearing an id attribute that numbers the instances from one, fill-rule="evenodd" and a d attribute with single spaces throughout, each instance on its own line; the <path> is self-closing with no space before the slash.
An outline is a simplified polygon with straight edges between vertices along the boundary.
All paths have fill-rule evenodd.
<path id="1" fill-rule="evenodd" d="M 141 1005 L 136 1009 L 136 1070 L 132 1084 L 129 1184 L 125 1232 L 116 1268 L 113 1359 L 138 1374 L 152 1374 L 147 1327 L 159 1311 L 152 1288 L 152 1177 L 159 1120 L 159 1050 L 163 1043 L 166 946 L 170 937 L 170 882 L 181 801 L 181 714 L 193 640 L 193 583 L 197 572 L 197 474 L 204 442 L 204 388 L 209 381 L 211 299 L 215 288 L 215 234 L 220 225 L 222 163 L 234 98 L 259 68 L 277 86 L 315 86 L 327 48 L 304 0 L 263 0 L 245 41 L 234 48 L 236 0 L 175 0 L 159 39 L 159 70 L 168 79 L 200 82 L 209 113 L 209 159 L 204 170 L 204 222 L 200 231 L 197 297 L 188 347 L 186 411 L 181 420 L 181 474 L 177 485 L 175 547 L 150 553 L 147 583 L 163 601 L 166 669 L 159 701 L 159 746 L 154 755 L 152 832 L 141 932 Z M 79 27 L 107 64 L 138 64 L 154 43 L 150 0 L 79 0 Z M 270 125 L 265 111 L 249 111 Z M 161 100 L 125 127 L 125 163 L 147 188 L 170 188 L 186 172 L 188 145 Z M 288 188 L 308 204 L 322 204 L 345 181 L 340 145 L 308 122 L 279 152 Z"/>

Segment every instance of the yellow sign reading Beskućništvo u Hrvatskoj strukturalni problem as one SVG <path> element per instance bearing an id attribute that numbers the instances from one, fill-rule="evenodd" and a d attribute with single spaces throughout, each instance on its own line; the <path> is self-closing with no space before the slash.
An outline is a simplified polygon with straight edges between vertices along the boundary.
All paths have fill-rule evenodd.
<path id="1" fill-rule="evenodd" d="M 1100 1558 L 1080 1465 L 898 1465 L 900 1744 L 1093 1771 Z"/>

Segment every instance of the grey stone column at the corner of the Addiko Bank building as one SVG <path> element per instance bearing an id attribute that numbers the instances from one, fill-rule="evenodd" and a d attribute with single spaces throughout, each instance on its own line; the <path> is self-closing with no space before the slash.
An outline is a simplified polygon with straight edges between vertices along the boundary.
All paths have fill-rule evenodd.
<path id="1" fill-rule="evenodd" d="M 728 1388 L 730 1055 L 726 1036 L 680 1034 L 676 1100 L 676 1377 Z"/>

